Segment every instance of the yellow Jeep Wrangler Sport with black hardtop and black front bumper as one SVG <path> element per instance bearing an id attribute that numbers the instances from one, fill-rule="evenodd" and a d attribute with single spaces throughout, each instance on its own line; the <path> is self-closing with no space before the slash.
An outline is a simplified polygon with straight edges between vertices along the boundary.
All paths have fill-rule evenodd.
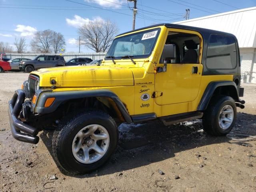
<path id="1" fill-rule="evenodd" d="M 208 134 L 228 134 L 243 91 L 234 35 L 158 24 L 116 36 L 102 66 L 32 72 L 9 102 L 10 126 L 15 139 L 33 144 L 54 128 L 56 163 L 86 173 L 114 153 L 123 122 L 202 118 Z"/>

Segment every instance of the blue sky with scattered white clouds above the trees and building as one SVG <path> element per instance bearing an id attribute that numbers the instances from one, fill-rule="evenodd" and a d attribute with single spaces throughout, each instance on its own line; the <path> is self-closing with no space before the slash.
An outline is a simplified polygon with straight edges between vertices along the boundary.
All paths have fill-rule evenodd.
<path id="1" fill-rule="evenodd" d="M 65 52 L 78 52 L 79 27 L 111 20 L 119 33 L 130 31 L 133 6 L 127 0 L 0 0 L 0 42 L 14 46 L 15 38 L 25 37 L 30 50 L 33 34 L 50 29 L 64 35 Z M 137 0 L 135 28 L 185 20 L 186 9 L 192 19 L 254 6 L 256 0 Z M 93 52 L 85 46 L 80 51 Z"/>

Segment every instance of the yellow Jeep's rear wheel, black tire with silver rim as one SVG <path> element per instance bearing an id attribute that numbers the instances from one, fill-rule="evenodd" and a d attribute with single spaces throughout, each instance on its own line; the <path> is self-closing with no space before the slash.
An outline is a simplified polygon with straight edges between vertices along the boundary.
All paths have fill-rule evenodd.
<path id="1" fill-rule="evenodd" d="M 225 136 L 236 122 L 236 103 L 230 96 L 211 99 L 203 116 L 203 129 L 210 135 Z"/>

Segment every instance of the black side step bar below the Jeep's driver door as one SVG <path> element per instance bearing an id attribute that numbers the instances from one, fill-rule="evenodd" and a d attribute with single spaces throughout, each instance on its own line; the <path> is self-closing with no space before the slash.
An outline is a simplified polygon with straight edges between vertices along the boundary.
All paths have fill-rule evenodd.
<path id="1" fill-rule="evenodd" d="M 160 117 L 160 119 L 162 120 L 165 126 L 168 126 L 175 123 L 199 119 L 203 116 L 203 114 L 204 114 L 203 112 L 195 111 L 195 112 L 188 112 L 188 113 L 182 113 L 177 115 Z"/>

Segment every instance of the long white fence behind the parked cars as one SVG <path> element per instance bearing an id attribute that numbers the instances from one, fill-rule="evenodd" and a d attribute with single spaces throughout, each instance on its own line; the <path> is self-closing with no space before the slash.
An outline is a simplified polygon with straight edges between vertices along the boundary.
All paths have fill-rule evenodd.
<path id="1" fill-rule="evenodd" d="M 52 53 L 55 55 L 54 53 Z M 7 58 L 15 59 L 15 58 L 27 58 L 27 59 L 33 59 L 36 56 L 41 55 L 41 53 L 6 53 Z M 46 54 L 50 55 L 50 54 Z M 63 53 L 62 56 L 64 56 L 65 61 L 68 61 L 72 58 L 78 58 L 78 57 L 88 57 L 92 60 L 96 59 L 103 59 L 105 57 L 105 53 Z"/>

